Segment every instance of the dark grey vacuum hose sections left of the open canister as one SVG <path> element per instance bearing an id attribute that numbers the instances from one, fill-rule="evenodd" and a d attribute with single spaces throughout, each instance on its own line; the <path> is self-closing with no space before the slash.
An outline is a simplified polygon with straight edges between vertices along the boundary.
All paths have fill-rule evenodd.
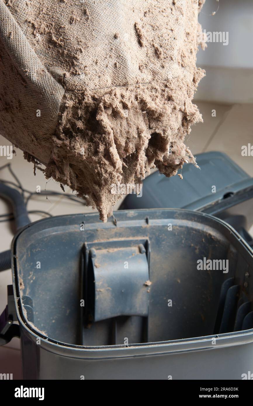
<path id="1" fill-rule="evenodd" d="M 0 183 L 0 197 L 11 203 L 17 230 L 30 223 L 24 199 L 18 190 Z M 0 253 L 0 271 L 9 268 L 11 268 L 11 250 Z"/>

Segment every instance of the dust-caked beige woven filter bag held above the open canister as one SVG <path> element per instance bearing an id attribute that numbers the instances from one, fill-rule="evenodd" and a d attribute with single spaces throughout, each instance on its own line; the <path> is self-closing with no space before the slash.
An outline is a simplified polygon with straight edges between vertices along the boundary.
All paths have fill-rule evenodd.
<path id="1" fill-rule="evenodd" d="M 103 221 L 112 185 L 196 165 L 203 2 L 0 0 L 1 134 Z"/>

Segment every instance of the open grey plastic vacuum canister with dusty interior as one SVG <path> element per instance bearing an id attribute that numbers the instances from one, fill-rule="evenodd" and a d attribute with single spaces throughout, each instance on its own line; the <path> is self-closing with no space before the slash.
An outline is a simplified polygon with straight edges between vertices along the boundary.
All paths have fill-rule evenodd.
<path id="1" fill-rule="evenodd" d="M 222 220 L 180 209 L 106 224 L 59 216 L 22 229 L 12 252 L 24 379 L 253 371 L 253 251 Z M 198 270 L 204 258 L 229 268 Z"/>

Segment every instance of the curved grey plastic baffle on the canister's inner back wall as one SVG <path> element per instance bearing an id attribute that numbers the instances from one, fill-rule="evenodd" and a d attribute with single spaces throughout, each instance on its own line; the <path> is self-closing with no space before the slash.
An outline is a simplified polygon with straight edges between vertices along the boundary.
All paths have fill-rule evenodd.
<path id="1" fill-rule="evenodd" d="M 148 316 L 149 255 L 148 240 L 84 244 L 84 323 Z"/>

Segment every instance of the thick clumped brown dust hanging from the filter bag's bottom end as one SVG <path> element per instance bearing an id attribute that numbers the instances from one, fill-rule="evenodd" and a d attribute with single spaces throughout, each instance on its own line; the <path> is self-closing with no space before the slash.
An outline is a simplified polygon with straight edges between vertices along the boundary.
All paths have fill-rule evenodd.
<path id="1" fill-rule="evenodd" d="M 105 91 L 67 92 L 46 176 L 88 196 L 107 220 L 121 195 L 112 184 L 140 183 L 155 166 L 172 176 L 195 163 L 184 136 L 201 120 L 191 89 L 174 79 Z"/>

